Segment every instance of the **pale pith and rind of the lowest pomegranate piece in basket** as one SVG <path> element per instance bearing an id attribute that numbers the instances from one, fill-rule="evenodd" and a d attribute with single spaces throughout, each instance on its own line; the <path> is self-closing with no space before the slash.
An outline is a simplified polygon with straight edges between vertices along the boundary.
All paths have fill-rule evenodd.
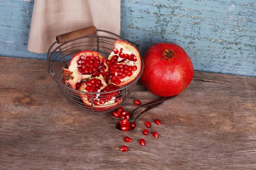
<path id="1" fill-rule="evenodd" d="M 97 90 L 97 92 L 95 92 L 95 93 L 99 93 L 103 88 L 105 88 L 106 86 L 108 86 L 108 84 L 106 84 L 106 82 L 104 81 L 104 78 L 103 78 L 103 76 L 102 75 L 100 75 L 99 77 L 93 77 L 93 78 L 95 78 L 95 79 L 100 79 L 101 80 L 101 84 L 103 85 L 103 86 L 101 86 L 98 90 Z M 93 79 L 92 78 L 92 79 Z M 88 79 L 88 81 L 90 81 L 89 79 Z M 91 84 L 90 84 L 91 85 Z M 83 82 L 82 84 L 81 84 L 81 86 L 80 86 L 80 88 L 79 88 L 79 91 L 83 91 L 83 92 L 88 92 L 88 91 L 86 91 L 85 90 L 85 88 L 87 87 L 87 85 L 86 85 L 86 82 Z M 104 95 L 104 98 L 106 97 L 108 97 L 107 96 L 107 94 L 108 93 L 104 93 L 103 95 Z M 105 96 L 106 95 L 106 96 Z M 117 96 L 117 95 L 116 95 Z M 119 104 L 120 102 L 121 102 L 121 98 L 119 99 L 119 101 L 118 102 L 115 102 L 115 99 L 116 99 L 116 96 L 115 97 L 112 97 L 110 100 L 108 100 L 106 103 L 104 103 L 104 104 L 100 104 L 100 105 L 95 105 L 95 104 L 93 104 L 93 106 L 95 107 L 95 108 L 99 108 L 99 107 L 108 107 L 108 106 L 114 106 L 114 105 L 116 105 L 116 104 Z M 88 104 L 88 105 L 91 105 L 91 102 L 90 101 L 88 101 L 88 98 L 91 98 L 91 94 L 80 94 L 80 97 L 81 97 L 81 99 L 82 99 L 82 101 L 85 103 L 85 104 Z M 96 97 L 93 97 L 93 99 L 99 99 L 99 97 L 100 97 L 100 94 L 96 94 Z M 100 100 L 100 99 L 99 99 Z M 94 101 L 95 102 L 95 101 Z M 94 103 L 94 102 L 92 102 L 92 103 Z"/>

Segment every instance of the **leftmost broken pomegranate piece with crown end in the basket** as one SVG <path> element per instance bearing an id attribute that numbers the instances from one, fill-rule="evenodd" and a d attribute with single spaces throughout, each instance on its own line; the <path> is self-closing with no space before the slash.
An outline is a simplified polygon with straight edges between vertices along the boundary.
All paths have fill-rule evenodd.
<path id="1" fill-rule="evenodd" d="M 63 68 L 63 82 L 78 90 L 83 79 L 105 76 L 106 58 L 97 51 L 81 51 L 72 57 L 68 68 Z"/>

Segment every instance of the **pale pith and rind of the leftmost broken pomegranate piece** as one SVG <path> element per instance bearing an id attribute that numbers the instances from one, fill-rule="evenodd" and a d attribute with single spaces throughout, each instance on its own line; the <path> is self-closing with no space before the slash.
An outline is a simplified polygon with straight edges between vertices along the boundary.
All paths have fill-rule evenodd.
<path id="1" fill-rule="evenodd" d="M 68 73 L 72 73 L 70 75 L 70 79 L 65 80 L 65 84 L 70 84 L 71 88 L 76 89 L 76 83 L 79 83 L 80 81 L 83 81 L 83 79 L 90 79 L 92 77 L 92 74 L 86 74 L 83 75 L 81 72 L 78 71 L 78 64 L 77 61 L 80 59 L 81 56 L 84 57 L 98 57 L 99 60 L 103 60 L 103 58 L 105 59 L 104 56 L 102 56 L 99 52 L 97 51 L 81 51 L 79 53 L 77 53 L 72 60 L 70 61 L 69 67 L 68 68 L 63 68 L 63 74 L 66 72 Z M 106 66 L 106 71 L 108 70 L 108 66 L 106 64 L 106 60 L 102 61 L 104 63 L 103 66 Z M 101 67 L 103 67 L 101 66 Z M 106 72 L 105 71 L 105 72 Z"/>

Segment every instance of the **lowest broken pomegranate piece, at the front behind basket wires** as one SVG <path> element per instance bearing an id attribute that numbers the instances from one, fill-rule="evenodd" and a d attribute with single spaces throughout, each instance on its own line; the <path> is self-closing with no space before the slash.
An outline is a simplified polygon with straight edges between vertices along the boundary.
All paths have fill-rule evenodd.
<path id="1" fill-rule="evenodd" d="M 80 97 L 85 106 L 91 107 L 93 105 L 94 110 L 111 109 L 121 104 L 122 98 L 120 95 L 119 87 L 114 84 L 106 84 L 102 75 L 94 77 L 88 81 L 82 82 L 79 87 L 79 91 L 92 92 L 80 93 Z M 101 94 L 96 94 L 100 93 Z"/>

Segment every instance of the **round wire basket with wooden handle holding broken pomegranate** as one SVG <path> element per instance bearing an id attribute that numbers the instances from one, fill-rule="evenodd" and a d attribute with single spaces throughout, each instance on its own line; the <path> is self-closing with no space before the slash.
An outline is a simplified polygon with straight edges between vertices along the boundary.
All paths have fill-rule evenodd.
<path id="1" fill-rule="evenodd" d="M 97 35 L 95 34 L 97 32 Z M 99 35 L 102 34 L 102 35 Z M 56 81 L 61 93 L 67 98 L 67 101 L 74 105 L 76 108 L 83 110 L 85 113 L 106 113 L 117 108 L 124 102 L 132 93 L 133 88 L 136 86 L 137 81 L 141 77 L 144 69 L 143 60 L 141 58 L 141 72 L 139 76 L 129 84 L 119 87 L 118 89 L 90 93 L 78 91 L 63 83 L 63 69 L 68 68 L 69 62 L 72 57 L 85 50 L 98 51 L 103 56 L 108 57 L 112 52 L 114 43 L 117 39 L 126 40 L 135 46 L 140 52 L 139 44 L 127 40 L 115 33 L 105 30 L 96 30 L 94 26 L 85 29 L 73 31 L 56 37 L 56 42 L 50 46 L 47 53 L 47 68 L 48 72 Z M 104 105 L 97 106 L 92 102 L 95 99 L 107 99 Z"/>

